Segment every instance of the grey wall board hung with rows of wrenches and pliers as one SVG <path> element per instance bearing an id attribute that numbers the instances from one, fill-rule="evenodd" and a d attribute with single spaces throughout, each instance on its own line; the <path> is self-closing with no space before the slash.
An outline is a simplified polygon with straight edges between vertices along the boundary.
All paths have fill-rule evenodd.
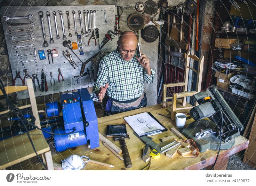
<path id="1" fill-rule="evenodd" d="M 115 26 L 114 5 L 10 6 L 2 7 L 0 15 L 13 79 L 20 75 L 15 85 L 34 79 L 36 97 L 92 87 L 97 64 L 89 61 L 80 74 L 82 62 L 117 46 L 118 36 L 111 32 Z M 106 39 L 100 50 L 99 43 Z M 28 98 L 25 91 L 17 95 L 18 99 Z"/>

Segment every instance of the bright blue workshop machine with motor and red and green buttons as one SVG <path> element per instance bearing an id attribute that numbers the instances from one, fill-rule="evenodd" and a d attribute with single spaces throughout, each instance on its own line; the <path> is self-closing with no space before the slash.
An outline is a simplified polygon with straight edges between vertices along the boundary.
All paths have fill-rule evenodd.
<path id="1" fill-rule="evenodd" d="M 56 128 L 54 133 L 69 134 L 54 135 L 56 150 L 61 152 L 85 144 L 92 149 L 99 147 L 98 120 L 88 90 L 84 88 L 77 92 L 60 94 L 60 101 L 64 128 Z M 48 117 L 58 116 L 58 103 L 47 103 L 46 113 Z"/>

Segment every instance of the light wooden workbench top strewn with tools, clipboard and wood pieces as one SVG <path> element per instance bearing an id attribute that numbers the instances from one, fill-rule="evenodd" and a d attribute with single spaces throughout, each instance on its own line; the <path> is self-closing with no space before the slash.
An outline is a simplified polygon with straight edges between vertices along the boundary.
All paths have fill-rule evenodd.
<path id="1" fill-rule="evenodd" d="M 186 107 L 187 106 L 189 106 L 189 104 L 187 104 Z M 181 100 L 177 101 L 177 107 L 181 107 Z M 141 159 L 145 143 L 143 143 L 138 137 L 132 134 L 134 131 L 123 119 L 124 117 L 135 115 L 142 112 L 150 112 L 156 117 L 157 120 L 159 120 L 168 129 L 168 131 L 152 136 L 153 140 L 156 143 L 160 142 L 159 139 L 161 137 L 173 135 L 172 132 L 170 131 L 170 128 L 175 127 L 175 120 L 172 121 L 170 118 L 157 114 L 160 113 L 170 117 L 171 114 L 166 109 L 162 108 L 162 104 L 98 118 L 99 132 L 101 134 L 106 134 L 106 127 L 109 124 L 126 124 L 127 134 L 129 134 L 130 139 L 126 138 L 125 141 L 132 160 L 132 168 L 127 170 L 140 170 L 141 168 L 147 165 L 147 163 L 145 163 Z M 188 125 L 192 121 L 193 119 L 187 120 L 186 125 Z M 109 139 L 112 140 L 112 138 Z M 114 142 L 114 140 L 112 140 L 112 142 L 115 143 L 117 146 L 120 146 L 119 141 Z M 219 158 L 214 170 L 226 170 L 228 157 L 231 156 L 232 154 L 235 154 L 239 151 L 246 149 L 248 147 L 248 144 L 249 141 L 246 138 L 242 136 L 236 137 L 236 142 L 231 149 L 220 151 Z M 218 151 L 209 150 L 204 153 L 199 153 L 199 156 L 196 158 L 183 158 L 182 156 L 177 155 L 173 159 L 166 157 L 164 153 L 161 154 L 160 159 L 151 159 L 151 166 L 149 170 L 200 170 L 204 167 L 207 167 L 207 169 L 209 169 L 215 161 L 217 152 Z M 93 160 L 114 165 L 113 168 L 109 168 L 89 162 L 86 165 L 85 170 L 124 170 L 125 168 L 124 161 L 118 159 L 111 151 L 109 151 L 102 144 L 101 141 L 100 147 L 96 149 L 88 150 L 88 148 L 86 148 L 85 146 L 81 146 L 76 148 L 75 150 L 67 150 L 61 152 L 61 156 L 63 157 L 63 159 L 71 154 L 77 154 L 80 156 L 85 155 Z M 61 160 L 58 160 L 58 162 L 54 163 L 61 163 Z"/>

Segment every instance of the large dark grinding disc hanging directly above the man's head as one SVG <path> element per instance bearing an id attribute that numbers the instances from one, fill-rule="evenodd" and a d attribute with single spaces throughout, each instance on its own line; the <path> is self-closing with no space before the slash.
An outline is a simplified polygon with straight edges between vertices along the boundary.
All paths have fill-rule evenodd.
<path id="1" fill-rule="evenodd" d="M 128 27 L 133 31 L 141 30 L 145 25 L 145 19 L 142 15 L 134 13 L 127 19 Z"/>

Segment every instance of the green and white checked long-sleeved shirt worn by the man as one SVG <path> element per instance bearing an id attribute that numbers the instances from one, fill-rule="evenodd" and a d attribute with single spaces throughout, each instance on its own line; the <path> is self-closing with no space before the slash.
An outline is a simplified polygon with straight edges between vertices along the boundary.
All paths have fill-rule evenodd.
<path id="1" fill-rule="evenodd" d="M 99 102 L 97 94 L 100 87 L 105 87 L 106 83 L 108 83 L 107 95 L 118 101 L 127 101 L 142 95 L 143 80 L 146 83 L 153 83 L 156 70 L 151 68 L 152 75 L 148 75 L 135 56 L 136 54 L 130 61 L 125 61 L 116 49 L 100 61 L 91 94 L 93 101 Z"/>

